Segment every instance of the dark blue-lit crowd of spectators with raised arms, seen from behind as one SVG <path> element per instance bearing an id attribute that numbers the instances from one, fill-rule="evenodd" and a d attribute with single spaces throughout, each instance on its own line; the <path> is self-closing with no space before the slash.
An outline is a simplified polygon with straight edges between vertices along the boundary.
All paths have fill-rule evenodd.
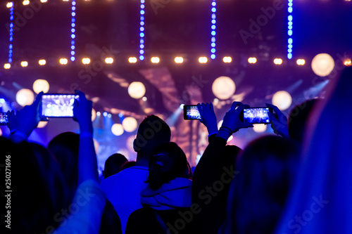
<path id="1" fill-rule="evenodd" d="M 209 135 L 193 173 L 168 124 L 146 116 L 133 142 L 137 160 L 111 155 L 102 180 L 92 101 L 77 91 L 80 134 L 59 134 L 45 148 L 27 141 L 40 120 L 39 93 L 8 112 L 11 135 L 0 137 L 1 157 L 11 157 L 11 231 L 352 233 L 352 67 L 328 85 L 325 98 L 296 105 L 288 117 L 267 104 L 276 135 L 243 149 L 227 140 L 253 127 L 240 118 L 249 105 L 232 103 L 218 129 L 213 105 L 199 103 Z"/>

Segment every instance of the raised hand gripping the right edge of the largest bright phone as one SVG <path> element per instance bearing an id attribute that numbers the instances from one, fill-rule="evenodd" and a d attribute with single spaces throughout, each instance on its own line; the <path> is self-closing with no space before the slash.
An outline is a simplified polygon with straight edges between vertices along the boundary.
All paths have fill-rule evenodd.
<path id="1" fill-rule="evenodd" d="M 75 100 L 73 105 L 73 119 L 80 124 L 81 133 L 84 131 L 92 133 L 92 100 L 87 100 L 81 91 L 76 90 L 75 93 L 80 96 L 80 100 Z"/>

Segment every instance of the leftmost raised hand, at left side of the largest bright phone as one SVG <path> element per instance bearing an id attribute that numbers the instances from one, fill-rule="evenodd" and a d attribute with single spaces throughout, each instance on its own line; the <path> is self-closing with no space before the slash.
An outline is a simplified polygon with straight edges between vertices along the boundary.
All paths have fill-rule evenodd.
<path id="1" fill-rule="evenodd" d="M 40 121 L 39 105 L 42 102 L 42 95 L 43 92 L 38 93 L 32 105 L 26 105 L 22 110 L 16 112 L 16 115 L 15 112 L 11 112 L 8 119 L 9 127 L 15 127 L 17 122 L 16 131 L 22 132 L 27 137 L 30 136 Z"/>

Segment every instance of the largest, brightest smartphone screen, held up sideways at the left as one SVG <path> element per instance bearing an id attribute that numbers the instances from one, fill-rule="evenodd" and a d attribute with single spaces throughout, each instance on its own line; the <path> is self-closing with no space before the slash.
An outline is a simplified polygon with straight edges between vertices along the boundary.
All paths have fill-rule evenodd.
<path id="1" fill-rule="evenodd" d="M 77 94 L 45 93 L 39 107 L 41 117 L 73 117 L 73 103 L 78 100 Z"/>

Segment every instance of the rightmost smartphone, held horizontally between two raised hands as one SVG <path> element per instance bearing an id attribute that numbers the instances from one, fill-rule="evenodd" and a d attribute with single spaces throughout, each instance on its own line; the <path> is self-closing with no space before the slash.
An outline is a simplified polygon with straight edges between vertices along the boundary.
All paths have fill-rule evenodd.
<path id="1" fill-rule="evenodd" d="M 271 108 L 246 108 L 241 113 L 241 121 L 249 124 L 270 124 L 268 112 Z"/>

